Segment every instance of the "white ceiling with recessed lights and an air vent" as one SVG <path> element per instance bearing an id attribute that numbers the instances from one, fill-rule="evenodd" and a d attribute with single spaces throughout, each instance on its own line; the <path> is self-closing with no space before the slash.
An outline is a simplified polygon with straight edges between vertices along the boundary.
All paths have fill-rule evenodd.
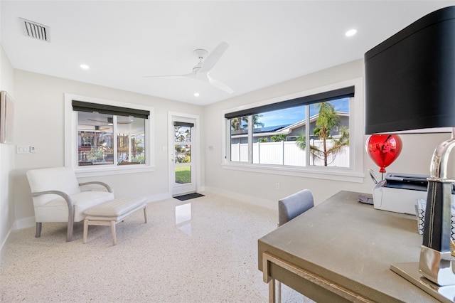
<path id="1" fill-rule="evenodd" d="M 1 45 L 13 68 L 171 100 L 208 105 L 364 53 L 451 1 L 7 1 Z M 50 42 L 25 36 L 18 18 L 50 27 Z M 346 37 L 350 28 L 358 33 Z M 230 47 L 200 80 L 196 48 Z M 81 63 L 90 65 L 82 70 Z M 200 96 L 195 97 L 194 92 Z"/>

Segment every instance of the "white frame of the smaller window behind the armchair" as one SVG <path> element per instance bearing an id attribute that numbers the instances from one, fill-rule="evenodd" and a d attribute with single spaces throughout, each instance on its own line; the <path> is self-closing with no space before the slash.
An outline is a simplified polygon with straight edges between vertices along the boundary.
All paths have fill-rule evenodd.
<path id="1" fill-rule="evenodd" d="M 79 166 L 77 165 L 77 111 L 73 110 L 73 100 L 90 102 L 100 105 L 115 107 L 127 107 L 134 110 L 148 110 L 150 115 L 145 119 L 145 146 L 146 163 L 135 165 L 100 165 Z M 112 174 L 130 174 L 134 172 L 154 171 L 154 107 L 136 105 L 126 102 L 105 100 L 80 95 L 65 94 L 65 166 L 73 168 L 76 176 L 105 176 Z M 114 138 L 117 134 L 114 131 Z M 114 139 L 115 144 L 117 141 Z"/>

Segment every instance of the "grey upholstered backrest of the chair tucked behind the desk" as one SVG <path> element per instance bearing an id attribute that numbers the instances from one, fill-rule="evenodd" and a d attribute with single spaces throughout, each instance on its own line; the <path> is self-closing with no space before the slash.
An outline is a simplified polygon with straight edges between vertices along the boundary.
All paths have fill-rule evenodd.
<path id="1" fill-rule="evenodd" d="M 278 226 L 287 223 L 314 206 L 313 194 L 304 189 L 278 201 Z"/>

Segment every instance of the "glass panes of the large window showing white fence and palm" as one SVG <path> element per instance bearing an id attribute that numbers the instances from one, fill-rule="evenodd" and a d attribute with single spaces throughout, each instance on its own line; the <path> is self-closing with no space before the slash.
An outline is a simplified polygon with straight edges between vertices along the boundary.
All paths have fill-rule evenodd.
<path id="1" fill-rule="evenodd" d="M 251 163 L 349 167 L 348 97 L 233 117 L 229 124 L 231 161 L 248 161 L 251 129 Z"/>

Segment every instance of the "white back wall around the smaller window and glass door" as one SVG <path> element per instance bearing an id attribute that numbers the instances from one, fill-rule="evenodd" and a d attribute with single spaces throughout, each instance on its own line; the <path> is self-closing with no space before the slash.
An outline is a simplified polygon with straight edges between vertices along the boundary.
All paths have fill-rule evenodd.
<path id="1" fill-rule="evenodd" d="M 89 85 L 23 70 L 14 70 L 14 100 L 16 103 L 16 144 L 33 145 L 35 154 L 16 154 L 14 201 L 18 228 L 34 224 L 31 192 L 26 181 L 28 169 L 64 165 L 64 94 L 82 95 L 105 100 L 149 105 L 155 110 L 154 136 L 156 170 L 137 174 L 120 174 L 86 178 L 100 180 L 114 188 L 116 196 L 168 196 L 168 111 L 202 115 L 203 107 L 164 100 L 108 87 Z M 203 123 L 201 123 L 201 127 Z M 201 144 L 204 144 L 201 138 Z M 203 151 L 201 152 L 203 159 Z M 201 164 L 201 171 L 204 165 Z M 201 174 L 203 184 L 203 174 Z"/>

